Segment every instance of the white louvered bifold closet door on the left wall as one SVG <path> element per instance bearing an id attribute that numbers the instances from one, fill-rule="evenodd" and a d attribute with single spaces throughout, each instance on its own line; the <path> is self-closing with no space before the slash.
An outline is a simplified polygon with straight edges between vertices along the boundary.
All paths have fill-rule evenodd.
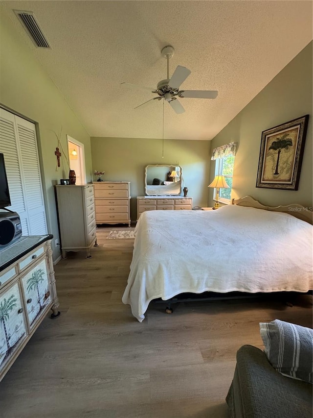
<path id="1" fill-rule="evenodd" d="M 34 123 L 0 109 L 0 152 L 4 154 L 12 206 L 23 235 L 47 233 Z"/>

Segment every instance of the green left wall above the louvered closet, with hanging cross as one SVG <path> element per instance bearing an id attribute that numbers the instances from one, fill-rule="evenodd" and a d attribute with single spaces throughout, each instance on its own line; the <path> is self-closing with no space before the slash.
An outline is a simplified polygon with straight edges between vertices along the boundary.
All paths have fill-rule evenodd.
<path id="1" fill-rule="evenodd" d="M 59 231 L 53 186 L 60 183 L 60 178 L 68 177 L 68 166 L 62 158 L 62 166 L 56 171 L 54 151 L 57 138 L 53 131 L 60 133 L 62 127 L 61 143 L 66 152 L 67 134 L 85 145 L 87 181 L 91 181 L 92 175 L 90 137 L 2 8 L 0 46 L 1 105 L 38 123 L 48 232 L 54 235 L 53 259 L 56 260 L 60 250 L 54 246 L 54 240 L 59 238 Z"/>

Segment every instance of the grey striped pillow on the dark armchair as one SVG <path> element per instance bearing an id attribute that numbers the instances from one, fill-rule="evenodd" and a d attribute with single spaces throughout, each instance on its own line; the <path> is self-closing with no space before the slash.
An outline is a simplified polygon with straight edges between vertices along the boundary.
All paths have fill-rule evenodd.
<path id="1" fill-rule="evenodd" d="M 269 363 L 280 373 L 313 383 L 313 330 L 281 320 L 260 322 Z"/>

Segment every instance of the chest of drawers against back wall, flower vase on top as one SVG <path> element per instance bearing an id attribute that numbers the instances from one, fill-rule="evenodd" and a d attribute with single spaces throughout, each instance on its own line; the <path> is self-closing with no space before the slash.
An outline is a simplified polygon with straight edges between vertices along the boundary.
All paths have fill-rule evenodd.
<path id="1" fill-rule="evenodd" d="M 130 182 L 95 181 L 96 223 L 128 223 L 131 226 Z"/>

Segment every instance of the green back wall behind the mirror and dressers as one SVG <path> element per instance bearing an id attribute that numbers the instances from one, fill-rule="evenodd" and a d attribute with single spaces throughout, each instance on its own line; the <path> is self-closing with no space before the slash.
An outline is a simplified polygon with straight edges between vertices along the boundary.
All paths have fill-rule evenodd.
<path id="1" fill-rule="evenodd" d="M 207 205 L 210 144 L 210 141 L 167 139 L 162 158 L 162 139 L 91 137 L 92 167 L 105 171 L 103 180 L 131 182 L 131 217 L 135 221 L 136 197 L 145 195 L 145 167 L 149 164 L 181 166 L 193 206 Z"/>

